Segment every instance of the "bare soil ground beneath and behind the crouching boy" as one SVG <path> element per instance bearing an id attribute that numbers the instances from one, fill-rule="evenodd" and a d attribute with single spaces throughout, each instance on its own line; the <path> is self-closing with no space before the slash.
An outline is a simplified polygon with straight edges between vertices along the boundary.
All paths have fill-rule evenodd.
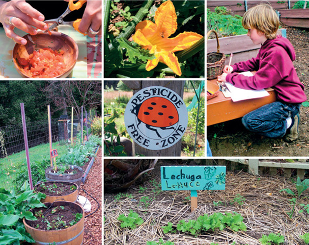
<path id="1" fill-rule="evenodd" d="M 295 49 L 293 64 L 309 101 L 309 29 L 281 27 Z M 290 144 L 247 131 L 241 119 L 208 126 L 207 139 L 213 156 L 308 156 L 309 107 L 301 106 L 300 117 L 299 138 Z"/>

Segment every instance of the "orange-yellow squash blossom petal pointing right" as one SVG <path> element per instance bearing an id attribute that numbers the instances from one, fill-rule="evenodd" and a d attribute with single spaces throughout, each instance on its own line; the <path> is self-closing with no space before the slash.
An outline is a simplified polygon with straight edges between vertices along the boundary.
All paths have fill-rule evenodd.
<path id="1" fill-rule="evenodd" d="M 169 38 L 169 42 L 175 44 L 174 48 L 171 50 L 172 52 L 180 51 L 187 49 L 194 45 L 199 39 L 203 36 L 199 35 L 195 32 L 183 32 L 177 35 L 174 38 Z"/>

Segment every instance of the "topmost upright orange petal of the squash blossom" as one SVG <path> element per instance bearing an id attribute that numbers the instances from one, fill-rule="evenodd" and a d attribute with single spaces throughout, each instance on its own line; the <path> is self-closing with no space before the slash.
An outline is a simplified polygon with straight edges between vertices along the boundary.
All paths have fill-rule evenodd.
<path id="1" fill-rule="evenodd" d="M 169 37 L 177 29 L 177 15 L 173 3 L 169 0 L 160 5 L 155 13 L 157 31 L 161 36 Z"/>

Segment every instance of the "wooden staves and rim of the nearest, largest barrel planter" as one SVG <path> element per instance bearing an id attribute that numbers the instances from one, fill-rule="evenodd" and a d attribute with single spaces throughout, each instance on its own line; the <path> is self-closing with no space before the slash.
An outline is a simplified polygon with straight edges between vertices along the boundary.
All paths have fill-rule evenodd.
<path id="1" fill-rule="evenodd" d="M 28 223 L 31 221 L 23 220 L 26 231 L 35 240 L 35 245 L 82 245 L 84 237 L 84 210 L 83 208 L 74 203 L 67 201 L 56 201 L 53 204 L 50 202 L 45 203 L 47 207 L 52 205 L 52 207 L 57 206 L 70 206 L 76 210 L 77 213 L 83 214 L 83 218 L 76 224 L 69 226 L 68 228 L 63 228 L 60 230 L 40 230 L 30 226 Z M 30 211 L 33 211 L 32 209 Z"/>

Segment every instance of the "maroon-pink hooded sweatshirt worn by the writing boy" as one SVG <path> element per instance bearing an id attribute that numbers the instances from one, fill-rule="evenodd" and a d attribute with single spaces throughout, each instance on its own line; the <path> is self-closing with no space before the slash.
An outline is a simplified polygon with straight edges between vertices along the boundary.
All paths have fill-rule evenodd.
<path id="1" fill-rule="evenodd" d="M 243 89 L 272 87 L 279 101 L 301 103 L 306 101 L 306 95 L 293 66 L 294 60 L 295 51 L 290 41 L 281 36 L 267 39 L 255 58 L 232 66 L 234 72 L 257 71 L 255 75 L 229 73 L 226 81 Z"/>

